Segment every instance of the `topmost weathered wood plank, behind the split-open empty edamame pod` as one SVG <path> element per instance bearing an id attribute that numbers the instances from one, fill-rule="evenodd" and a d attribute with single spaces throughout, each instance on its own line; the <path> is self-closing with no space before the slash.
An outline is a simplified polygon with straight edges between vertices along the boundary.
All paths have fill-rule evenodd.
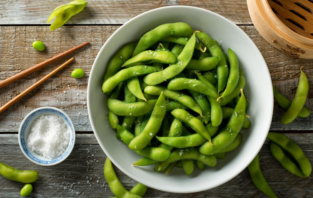
<path id="1" fill-rule="evenodd" d="M 53 9 L 69 1 L 1 1 L 0 24 L 47 24 Z M 68 24 L 123 24 L 148 10 L 171 5 L 204 8 L 218 13 L 236 24 L 252 24 L 245 0 L 156 0 L 115 1 L 89 0 L 84 10 Z"/>

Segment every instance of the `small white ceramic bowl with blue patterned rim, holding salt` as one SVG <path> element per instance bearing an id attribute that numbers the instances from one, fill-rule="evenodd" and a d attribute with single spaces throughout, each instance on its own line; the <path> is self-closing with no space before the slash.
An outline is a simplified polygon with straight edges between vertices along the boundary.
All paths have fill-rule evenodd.
<path id="1" fill-rule="evenodd" d="M 70 131 L 69 145 L 67 146 L 64 154 L 62 154 L 61 156 L 59 156 L 56 159 L 46 159 L 46 158 L 36 154 L 32 150 L 30 150 L 28 148 L 28 145 L 27 145 L 27 138 L 28 138 L 28 134 L 30 133 L 31 124 L 32 124 L 34 119 L 36 119 L 39 115 L 42 115 L 42 114 L 56 114 L 56 115 L 58 115 L 59 117 L 61 117 L 64 120 L 64 122 L 67 125 L 67 128 Z M 20 128 L 18 130 L 18 143 L 20 145 L 20 148 L 21 148 L 23 154 L 33 163 L 39 164 L 42 166 L 52 166 L 55 164 L 59 164 L 60 162 L 64 161 L 69 156 L 69 154 L 71 154 L 71 152 L 74 148 L 75 129 L 74 129 L 73 122 L 71 121 L 69 116 L 66 115 L 66 113 L 64 111 L 62 111 L 58 108 L 55 108 L 55 107 L 39 107 L 39 108 L 34 109 L 33 111 L 29 112 L 25 116 L 25 118 L 23 119 L 23 121 L 20 125 Z"/>

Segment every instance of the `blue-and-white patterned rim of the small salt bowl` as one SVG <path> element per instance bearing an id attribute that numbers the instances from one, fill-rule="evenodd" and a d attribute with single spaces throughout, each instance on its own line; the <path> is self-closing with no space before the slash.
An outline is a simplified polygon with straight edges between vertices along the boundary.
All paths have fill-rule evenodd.
<path id="1" fill-rule="evenodd" d="M 21 135 L 22 135 L 21 133 L 22 133 L 22 130 L 23 130 L 23 126 L 24 126 L 26 120 L 28 119 L 28 117 L 31 116 L 34 112 L 38 112 L 39 110 L 43 110 L 43 109 L 52 109 L 52 110 L 55 110 L 55 111 L 58 111 L 58 112 L 62 113 L 62 114 L 68 119 L 68 121 L 69 121 L 70 127 L 71 127 L 71 129 L 72 129 L 70 133 L 71 133 L 71 136 L 73 136 L 73 141 L 71 141 L 71 139 L 70 139 L 70 142 L 69 142 L 69 149 L 67 149 L 67 150 L 65 151 L 65 152 L 68 152 L 68 153 L 67 153 L 62 159 L 60 159 L 60 160 L 58 160 L 58 161 L 55 161 L 54 163 L 48 163 L 48 164 L 40 163 L 40 162 L 37 162 L 37 161 L 31 159 L 31 158 L 28 156 L 28 154 L 26 154 L 26 152 L 25 152 L 25 150 L 24 150 L 24 148 L 23 148 L 23 145 L 22 145 L 22 141 L 21 141 Z M 44 113 L 44 112 L 42 112 L 42 113 Z M 47 112 L 47 113 L 49 113 L 49 112 Z M 53 112 L 50 112 L 50 113 L 53 113 Z M 62 118 L 66 123 L 68 123 L 68 122 L 64 119 L 64 117 L 61 117 L 61 118 Z M 32 119 L 33 119 L 33 118 L 32 118 Z M 56 108 L 56 107 L 49 107 L 49 106 L 46 106 L 46 107 L 39 107 L 39 108 L 36 108 L 36 109 L 32 110 L 31 112 L 29 112 L 29 113 L 24 117 L 24 119 L 23 119 L 23 121 L 21 122 L 21 125 L 20 125 L 20 127 L 19 127 L 19 129 L 18 129 L 18 144 L 19 144 L 20 149 L 22 150 L 23 154 L 24 154 L 30 161 L 32 161 L 33 163 L 38 164 L 38 165 L 42 165 L 42 166 L 52 166 L 52 165 L 59 164 L 59 163 L 63 162 L 63 161 L 72 153 L 72 151 L 73 151 L 73 149 L 74 149 L 74 145 L 75 145 L 75 140 L 76 140 L 76 133 L 75 133 L 74 124 L 73 124 L 71 118 L 70 118 L 64 111 L 62 111 L 62 110 L 60 110 L 60 109 L 58 109 L 58 108 Z M 30 152 L 30 153 L 33 153 L 33 152 L 30 151 L 30 150 L 29 150 L 29 152 Z M 62 155 L 61 155 L 61 156 L 62 156 Z M 59 157 L 61 157 L 61 156 L 59 156 Z M 59 158 L 59 157 L 58 157 L 58 158 Z M 57 159 L 58 159 L 58 158 L 57 158 Z M 53 160 L 55 160 L 55 159 L 53 159 Z M 43 161 L 44 161 L 44 160 L 43 160 Z M 46 161 L 49 161 L 49 160 L 46 160 Z"/>

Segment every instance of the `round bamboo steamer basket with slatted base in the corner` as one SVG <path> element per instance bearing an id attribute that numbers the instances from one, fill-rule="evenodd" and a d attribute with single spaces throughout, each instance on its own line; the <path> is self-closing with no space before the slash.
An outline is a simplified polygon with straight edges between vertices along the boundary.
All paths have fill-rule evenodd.
<path id="1" fill-rule="evenodd" d="M 286 55 L 313 59 L 313 0 L 247 0 L 261 36 Z"/>

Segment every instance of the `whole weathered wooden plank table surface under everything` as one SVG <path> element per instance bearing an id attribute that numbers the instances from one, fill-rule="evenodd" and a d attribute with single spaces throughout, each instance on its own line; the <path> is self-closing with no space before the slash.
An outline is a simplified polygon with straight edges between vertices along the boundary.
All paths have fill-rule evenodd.
<path id="1" fill-rule="evenodd" d="M 90 126 L 87 112 L 87 83 L 91 66 L 101 46 L 123 23 L 148 10 L 170 5 L 188 5 L 205 8 L 233 21 L 254 41 L 268 65 L 273 85 L 286 97 L 295 94 L 299 66 L 313 82 L 313 59 L 292 58 L 268 44 L 256 31 L 249 17 L 245 0 L 89 0 L 86 8 L 73 16 L 65 26 L 50 32 L 47 17 L 52 10 L 67 1 L 1 0 L 0 8 L 0 81 L 21 70 L 50 58 L 59 52 L 90 41 L 90 45 L 74 52 L 74 63 L 25 96 L 0 114 L 0 161 L 19 169 L 39 171 L 29 197 L 109 197 L 111 193 L 103 176 L 105 153 L 100 148 Z M 32 48 L 34 40 L 43 41 L 46 50 Z M 0 89 L 0 104 L 47 75 L 70 56 L 40 69 Z M 85 76 L 74 79 L 73 68 L 85 70 Z M 305 104 L 313 109 L 313 92 Z M 23 118 L 33 109 L 53 106 L 71 117 L 76 130 L 76 143 L 72 154 L 61 164 L 44 167 L 35 165 L 23 155 L 18 146 L 18 128 Z M 313 114 L 297 118 L 289 125 L 279 120 L 283 111 L 274 104 L 271 131 L 286 133 L 313 161 Z M 253 124 L 253 123 L 252 123 Z M 283 169 L 273 158 L 266 141 L 260 151 L 260 163 L 265 178 L 278 197 L 313 197 L 313 180 L 302 179 Z M 130 189 L 136 181 L 116 170 L 121 182 Z M 209 179 L 208 179 L 209 182 Z M 23 185 L 0 177 L 0 197 L 18 197 Z M 267 197 L 256 189 L 248 171 L 214 189 L 193 193 L 173 194 L 148 188 L 145 197 Z"/>

